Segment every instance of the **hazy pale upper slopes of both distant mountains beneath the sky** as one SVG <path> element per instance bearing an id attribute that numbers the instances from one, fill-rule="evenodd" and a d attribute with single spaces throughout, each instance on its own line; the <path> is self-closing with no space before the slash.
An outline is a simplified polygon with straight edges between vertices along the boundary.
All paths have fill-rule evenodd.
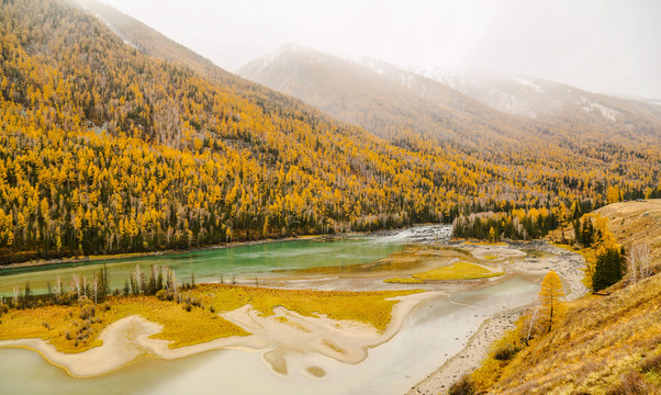
<path id="1" fill-rule="evenodd" d="M 661 108 L 650 103 L 538 78 L 417 71 L 294 45 L 237 70 L 386 138 L 402 129 L 440 139 L 492 138 L 505 144 L 534 143 L 548 135 L 607 136 L 621 144 L 661 137 Z"/>

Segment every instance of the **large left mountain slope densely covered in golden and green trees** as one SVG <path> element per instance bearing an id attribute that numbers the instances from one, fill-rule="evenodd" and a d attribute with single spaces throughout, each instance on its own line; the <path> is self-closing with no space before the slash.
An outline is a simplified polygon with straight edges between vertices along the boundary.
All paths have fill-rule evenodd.
<path id="1" fill-rule="evenodd" d="M 553 168 L 414 134 L 393 145 L 139 29 L 117 34 L 57 0 L 2 3 L 4 262 L 447 222 L 658 185 L 657 167 L 640 166 L 658 150 L 618 151 L 617 169 L 602 153 Z"/>

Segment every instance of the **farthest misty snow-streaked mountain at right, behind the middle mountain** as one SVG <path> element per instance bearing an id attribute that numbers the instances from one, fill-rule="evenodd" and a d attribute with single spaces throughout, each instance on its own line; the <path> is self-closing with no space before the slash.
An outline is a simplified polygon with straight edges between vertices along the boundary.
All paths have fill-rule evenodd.
<path id="1" fill-rule="evenodd" d="M 661 106 L 587 92 L 567 84 L 527 76 L 495 72 L 417 69 L 491 108 L 579 132 L 598 126 L 617 133 L 635 129 L 661 136 Z"/>

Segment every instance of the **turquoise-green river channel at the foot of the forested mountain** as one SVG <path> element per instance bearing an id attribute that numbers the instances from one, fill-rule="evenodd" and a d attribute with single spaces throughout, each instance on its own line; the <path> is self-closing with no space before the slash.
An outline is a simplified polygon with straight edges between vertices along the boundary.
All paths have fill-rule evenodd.
<path id="1" fill-rule="evenodd" d="M 329 266 L 368 263 L 400 251 L 405 240 L 378 237 L 352 237 L 334 240 L 295 240 L 237 246 L 187 253 L 157 257 L 128 258 L 105 261 L 111 289 L 123 290 L 124 281 L 139 264 L 143 272 L 150 272 L 153 264 L 167 266 L 175 271 L 178 282 L 225 282 L 237 279 L 258 279 L 277 275 L 275 271 L 310 269 Z M 65 263 L 47 267 L 0 270 L 0 295 L 8 296 L 14 285 L 23 289 L 30 281 L 33 293 L 46 293 L 47 283 L 53 285 L 59 275 L 70 287 L 74 274 L 91 279 L 103 267 L 100 262 Z"/>

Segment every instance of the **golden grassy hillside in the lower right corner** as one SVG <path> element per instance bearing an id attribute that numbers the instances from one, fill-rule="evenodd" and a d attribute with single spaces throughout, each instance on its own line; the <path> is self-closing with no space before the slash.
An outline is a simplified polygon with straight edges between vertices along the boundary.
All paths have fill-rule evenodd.
<path id="1" fill-rule="evenodd" d="M 661 275 L 607 297 L 573 302 L 556 329 L 534 339 L 508 363 L 490 356 L 472 374 L 473 382 L 494 394 L 600 395 L 620 385 L 660 394 L 661 366 L 643 369 L 650 358 L 661 360 L 659 301 Z M 515 329 L 493 348 L 517 338 L 520 331 Z"/>

